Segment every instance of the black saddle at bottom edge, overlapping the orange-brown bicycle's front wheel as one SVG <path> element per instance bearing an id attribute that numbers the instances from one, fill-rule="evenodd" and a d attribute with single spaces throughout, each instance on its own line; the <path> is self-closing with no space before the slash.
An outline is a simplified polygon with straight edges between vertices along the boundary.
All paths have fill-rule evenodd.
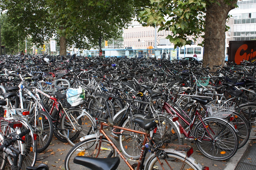
<path id="1" fill-rule="evenodd" d="M 73 162 L 75 164 L 88 167 L 90 169 L 116 170 L 120 163 L 120 158 L 119 157 L 92 158 L 92 157 L 76 156 Z"/>

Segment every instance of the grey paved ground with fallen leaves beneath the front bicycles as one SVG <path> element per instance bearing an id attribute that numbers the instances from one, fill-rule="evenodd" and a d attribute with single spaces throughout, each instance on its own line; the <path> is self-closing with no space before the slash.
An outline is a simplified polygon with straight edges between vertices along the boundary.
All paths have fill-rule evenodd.
<path id="1" fill-rule="evenodd" d="M 233 170 L 233 169 L 235 169 L 238 161 L 241 159 L 241 157 L 245 153 L 247 147 L 250 147 L 252 145 L 252 144 L 250 144 L 250 142 L 252 144 L 254 144 L 254 143 L 256 143 L 256 140 L 248 141 L 247 145 L 245 145 L 243 148 L 239 149 L 237 151 L 237 153 L 235 154 L 235 156 L 233 156 L 228 161 L 212 161 L 211 159 L 208 159 L 205 156 L 203 156 L 195 144 L 190 144 L 189 142 L 187 142 L 187 144 L 191 145 L 193 147 L 194 153 L 192 154 L 192 157 L 195 158 L 202 166 L 208 166 L 210 168 L 210 170 L 220 170 L 220 169 Z M 51 145 L 46 149 L 46 151 L 43 153 L 38 153 L 37 165 L 39 165 L 40 163 L 46 163 L 49 165 L 50 169 L 53 169 L 53 170 L 63 169 L 64 170 L 65 169 L 64 168 L 64 160 L 65 160 L 65 157 L 66 157 L 68 151 L 71 149 L 71 147 L 72 146 L 70 144 L 62 143 L 54 136 Z M 254 149 L 255 149 L 254 153 L 256 154 L 256 144 L 255 144 Z M 39 160 L 40 158 L 43 158 L 43 159 Z M 251 158 L 251 159 L 253 159 L 253 158 Z M 252 160 L 252 161 L 254 161 L 254 160 Z M 131 161 L 129 161 L 129 162 L 131 164 L 134 164 L 134 162 L 131 162 Z M 129 169 L 129 168 L 121 160 L 121 164 L 118 169 L 123 170 L 123 169 Z"/>

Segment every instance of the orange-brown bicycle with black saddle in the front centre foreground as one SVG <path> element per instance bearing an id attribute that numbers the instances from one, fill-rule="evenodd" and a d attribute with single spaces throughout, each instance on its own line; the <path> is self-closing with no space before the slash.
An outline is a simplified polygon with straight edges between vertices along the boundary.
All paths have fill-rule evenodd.
<path id="1" fill-rule="evenodd" d="M 102 112 L 102 114 L 103 114 L 103 118 L 98 118 L 98 121 L 97 121 L 97 123 L 100 123 L 100 129 L 97 130 L 95 134 L 87 135 L 87 136 L 80 138 L 81 142 L 76 144 L 69 151 L 69 153 L 66 156 L 65 169 L 73 169 L 73 168 L 84 169 L 83 166 L 79 167 L 77 164 L 75 164 L 75 163 L 80 162 L 79 164 L 85 165 L 85 162 L 83 160 L 86 158 L 82 158 L 84 156 L 89 156 L 92 158 L 91 160 L 95 160 L 95 159 L 93 159 L 93 157 L 95 157 L 95 158 L 106 158 L 107 157 L 107 159 L 108 159 L 109 157 L 117 156 L 117 154 L 119 154 L 121 156 L 121 158 L 125 161 L 125 163 L 127 164 L 127 166 L 130 169 L 135 169 L 135 168 L 137 170 L 144 169 L 143 163 L 144 163 L 147 151 L 148 151 L 148 148 L 146 145 L 147 143 L 152 143 L 152 145 L 150 145 L 152 147 L 152 148 L 150 148 L 152 154 L 151 154 L 150 158 L 148 159 L 150 161 L 147 162 L 147 164 L 149 165 L 149 166 L 147 166 L 148 169 L 153 169 L 153 167 L 155 167 L 157 162 L 159 162 L 159 165 L 161 165 L 161 167 L 163 167 L 163 169 L 164 168 L 168 169 L 168 168 L 172 167 L 172 165 L 170 165 L 170 164 L 172 164 L 172 159 L 167 159 L 167 157 L 174 158 L 173 154 L 175 153 L 175 151 L 164 149 L 164 152 L 163 151 L 159 152 L 162 145 L 160 146 L 159 143 L 154 143 L 152 141 L 152 138 L 149 135 L 149 132 L 157 126 L 158 120 L 156 120 L 154 118 L 153 119 L 135 118 L 134 122 L 137 123 L 138 126 L 143 128 L 144 130 L 146 130 L 146 132 L 142 132 L 142 131 L 138 131 L 138 130 L 134 130 L 134 129 L 128 129 L 128 128 L 124 128 L 124 127 L 120 127 L 120 126 L 115 126 L 113 124 L 113 122 L 111 121 L 110 117 L 106 114 L 106 111 L 104 110 L 102 105 L 98 101 L 96 101 L 96 99 L 94 97 L 92 97 L 92 98 L 95 100 L 95 102 L 97 102 L 97 104 L 100 107 L 100 112 Z M 104 122 L 107 122 L 107 123 L 104 123 Z M 106 134 L 106 132 L 103 129 L 103 126 L 118 128 L 120 130 L 135 132 L 138 134 L 138 138 L 140 138 L 142 140 L 141 141 L 142 149 L 141 149 L 140 158 L 139 158 L 139 161 L 137 164 L 131 165 L 127 161 L 127 159 L 124 157 L 124 155 L 119 151 L 119 149 L 115 145 L 115 139 L 113 141 L 111 139 L 111 136 L 108 136 Z M 162 141 L 162 143 L 165 144 L 166 141 L 167 140 Z M 156 144 L 158 144 L 159 147 L 156 147 L 157 146 Z M 155 152 L 156 153 L 158 152 L 158 155 L 153 154 Z M 186 152 L 186 151 L 184 151 L 184 152 Z M 181 155 L 178 154 L 179 157 L 177 156 L 177 158 L 175 158 L 175 159 L 179 159 L 181 161 L 181 162 L 179 162 L 180 166 L 178 166 L 178 167 L 186 167 L 186 168 L 190 167 L 193 169 L 202 169 L 201 165 L 196 164 L 195 160 L 192 157 L 190 157 L 191 153 L 192 153 L 192 150 L 190 149 L 190 150 L 188 150 L 187 154 L 181 154 Z M 79 157 L 76 157 L 76 156 L 79 156 Z M 159 158 L 163 158 L 163 160 L 160 160 Z M 117 158 L 114 158 L 114 159 L 117 159 Z M 82 161 L 80 161 L 80 160 L 82 160 Z M 118 164 L 118 161 L 116 161 L 116 162 Z M 99 164 L 99 165 L 101 165 L 101 164 Z M 181 166 L 181 165 L 183 165 L 183 166 Z M 98 166 L 96 165 L 95 167 L 98 167 Z M 114 167 L 116 167 L 116 166 L 114 166 Z M 102 167 L 102 168 L 104 168 L 104 167 Z"/>

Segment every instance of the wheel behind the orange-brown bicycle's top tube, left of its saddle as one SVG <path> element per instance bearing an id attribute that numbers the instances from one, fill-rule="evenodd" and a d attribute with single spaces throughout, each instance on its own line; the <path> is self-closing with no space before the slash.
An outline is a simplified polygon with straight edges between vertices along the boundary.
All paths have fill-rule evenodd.
<path id="1" fill-rule="evenodd" d="M 144 119 L 145 115 L 135 114 L 133 115 L 133 118 Z M 122 124 L 122 127 L 133 130 L 145 131 L 133 122 L 133 118 L 127 118 Z M 143 140 L 144 136 L 142 134 L 123 131 L 119 136 L 120 148 L 123 154 L 129 158 L 138 159 L 140 156 Z"/>

